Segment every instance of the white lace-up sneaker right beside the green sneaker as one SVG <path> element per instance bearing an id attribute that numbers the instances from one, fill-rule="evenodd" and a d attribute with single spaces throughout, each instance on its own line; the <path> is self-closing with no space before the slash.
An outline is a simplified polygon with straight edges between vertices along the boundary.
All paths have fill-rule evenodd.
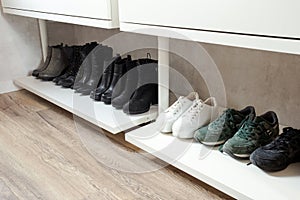
<path id="1" fill-rule="evenodd" d="M 210 97 L 204 102 L 195 100 L 193 105 L 181 115 L 173 124 L 173 136 L 178 138 L 193 138 L 194 132 L 214 120 L 217 111 L 217 102 Z"/>

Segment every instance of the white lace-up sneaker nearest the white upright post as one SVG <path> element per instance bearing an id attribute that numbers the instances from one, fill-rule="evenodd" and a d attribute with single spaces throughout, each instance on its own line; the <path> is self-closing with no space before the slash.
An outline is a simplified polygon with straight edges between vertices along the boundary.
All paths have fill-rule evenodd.
<path id="1" fill-rule="evenodd" d="M 166 109 L 157 119 L 158 123 L 161 123 L 160 132 L 170 133 L 172 132 L 172 126 L 174 122 L 183 114 L 187 109 L 191 107 L 194 100 L 199 99 L 197 92 L 191 92 L 188 96 L 180 96 L 175 103 L 173 103 L 168 109 Z"/>

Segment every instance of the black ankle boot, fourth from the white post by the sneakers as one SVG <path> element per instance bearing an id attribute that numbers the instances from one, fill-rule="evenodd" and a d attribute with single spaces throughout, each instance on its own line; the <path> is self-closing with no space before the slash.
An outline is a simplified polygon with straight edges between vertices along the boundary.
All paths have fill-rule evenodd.
<path id="1" fill-rule="evenodd" d="M 101 82 L 99 87 L 95 90 L 91 91 L 90 97 L 95 101 L 100 101 L 101 96 L 108 90 L 114 73 L 114 65 L 116 61 L 121 60 L 121 57 L 117 55 L 116 57 L 112 58 L 112 60 L 104 61 L 105 70 L 101 77 Z"/>

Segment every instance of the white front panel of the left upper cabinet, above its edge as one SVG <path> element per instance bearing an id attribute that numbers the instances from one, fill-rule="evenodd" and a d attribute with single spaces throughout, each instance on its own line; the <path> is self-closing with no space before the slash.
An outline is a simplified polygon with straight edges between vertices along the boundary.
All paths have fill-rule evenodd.
<path id="1" fill-rule="evenodd" d="M 93 19 L 111 19 L 110 0 L 2 0 L 3 7 Z"/>

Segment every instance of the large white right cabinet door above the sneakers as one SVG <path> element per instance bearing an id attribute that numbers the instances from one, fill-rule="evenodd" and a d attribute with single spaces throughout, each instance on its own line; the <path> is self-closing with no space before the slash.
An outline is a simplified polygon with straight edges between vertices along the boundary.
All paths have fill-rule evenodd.
<path id="1" fill-rule="evenodd" d="M 121 22 L 300 38 L 299 0 L 119 0 Z"/>

